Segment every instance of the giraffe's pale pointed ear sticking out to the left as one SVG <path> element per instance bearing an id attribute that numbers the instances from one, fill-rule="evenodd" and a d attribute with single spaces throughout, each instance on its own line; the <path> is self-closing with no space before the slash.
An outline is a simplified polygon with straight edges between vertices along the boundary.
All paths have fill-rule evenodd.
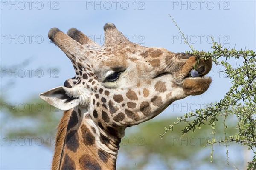
<path id="1" fill-rule="evenodd" d="M 39 97 L 50 105 L 58 109 L 67 111 L 71 108 L 76 107 L 80 103 L 79 98 L 74 98 L 67 95 L 70 94 L 70 91 L 72 91 L 72 88 L 59 86 L 57 88 L 52 88 L 49 91 L 39 94 Z"/>

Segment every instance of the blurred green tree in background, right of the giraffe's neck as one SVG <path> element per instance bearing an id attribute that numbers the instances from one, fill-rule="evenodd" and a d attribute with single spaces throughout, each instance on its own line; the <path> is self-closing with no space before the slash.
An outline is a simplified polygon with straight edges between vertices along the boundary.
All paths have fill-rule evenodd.
<path id="1" fill-rule="evenodd" d="M 234 144 L 230 147 L 230 152 L 236 153 L 236 158 L 230 158 L 230 165 L 227 165 L 226 148 L 224 144 L 217 146 L 217 155 L 215 163 L 210 163 L 210 148 L 207 146 L 207 140 L 212 139 L 211 128 L 207 125 L 202 125 L 201 130 L 195 133 L 189 133 L 186 136 L 180 137 L 180 129 L 185 127 L 185 124 L 178 124 L 176 129 L 163 139 L 158 137 L 163 125 L 169 122 L 174 122 L 175 118 L 150 120 L 137 125 L 136 128 L 126 130 L 126 135 L 122 138 L 120 144 L 121 154 L 125 156 L 120 169 L 145 169 L 154 167 L 155 169 L 234 169 L 233 166 L 244 168 L 244 153 L 241 150 L 244 147 L 238 147 Z M 226 122 L 229 125 L 227 134 L 238 132 L 235 128 L 234 119 Z M 207 123 L 206 123 L 207 124 Z M 223 125 L 219 122 L 216 125 L 217 139 L 223 138 Z M 204 149 L 206 146 L 208 149 Z M 233 149 L 232 149 L 233 148 Z M 236 148 L 239 152 L 234 151 Z M 240 159 L 237 159 L 237 158 Z M 156 165 L 154 165 L 156 164 Z M 161 166 L 160 166 L 161 165 Z M 154 169 L 149 168 L 149 169 Z"/>

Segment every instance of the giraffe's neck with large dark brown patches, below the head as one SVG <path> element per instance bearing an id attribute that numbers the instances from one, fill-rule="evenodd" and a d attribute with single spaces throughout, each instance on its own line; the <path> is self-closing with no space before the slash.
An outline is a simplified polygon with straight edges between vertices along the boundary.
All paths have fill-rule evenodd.
<path id="1" fill-rule="evenodd" d="M 100 129 L 86 110 L 64 112 L 57 135 L 52 170 L 116 169 L 120 138 Z"/>

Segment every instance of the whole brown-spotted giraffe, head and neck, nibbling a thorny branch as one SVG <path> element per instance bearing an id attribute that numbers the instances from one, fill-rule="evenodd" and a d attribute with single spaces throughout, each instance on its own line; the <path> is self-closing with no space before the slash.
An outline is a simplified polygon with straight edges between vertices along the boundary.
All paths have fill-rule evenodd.
<path id="1" fill-rule="evenodd" d="M 76 28 L 48 37 L 71 60 L 76 75 L 39 96 L 64 110 L 57 127 L 52 170 L 115 170 L 125 128 L 145 122 L 189 95 L 204 93 L 212 60 L 130 42 L 113 23 L 100 46 Z"/>

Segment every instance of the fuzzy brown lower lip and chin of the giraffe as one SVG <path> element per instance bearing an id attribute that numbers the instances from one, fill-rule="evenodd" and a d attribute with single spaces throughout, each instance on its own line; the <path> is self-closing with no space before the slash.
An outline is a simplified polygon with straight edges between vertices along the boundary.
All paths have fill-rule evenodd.
<path id="1" fill-rule="evenodd" d="M 211 82 L 210 77 L 188 77 L 184 79 L 183 91 L 188 96 L 200 95 L 207 91 Z"/>

